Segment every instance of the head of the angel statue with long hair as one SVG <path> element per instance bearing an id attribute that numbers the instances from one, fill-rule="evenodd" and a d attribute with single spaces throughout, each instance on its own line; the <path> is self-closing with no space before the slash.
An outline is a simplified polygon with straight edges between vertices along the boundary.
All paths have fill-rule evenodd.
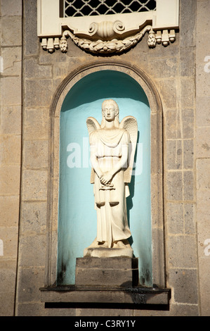
<path id="1" fill-rule="evenodd" d="M 105 127 L 105 120 L 108 122 L 114 120 L 114 126 L 119 127 L 119 107 L 116 101 L 107 99 L 102 104 L 102 122 L 100 127 Z"/>

